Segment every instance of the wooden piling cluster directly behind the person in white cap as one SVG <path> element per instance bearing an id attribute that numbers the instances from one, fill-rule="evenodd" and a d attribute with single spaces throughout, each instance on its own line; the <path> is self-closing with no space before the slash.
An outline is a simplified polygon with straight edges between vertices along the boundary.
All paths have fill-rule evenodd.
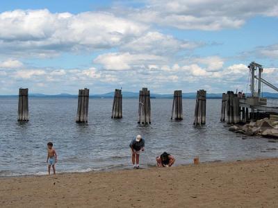
<path id="1" fill-rule="evenodd" d="M 140 90 L 138 114 L 138 123 L 151 123 L 151 98 L 147 88 L 142 88 L 142 90 Z"/>

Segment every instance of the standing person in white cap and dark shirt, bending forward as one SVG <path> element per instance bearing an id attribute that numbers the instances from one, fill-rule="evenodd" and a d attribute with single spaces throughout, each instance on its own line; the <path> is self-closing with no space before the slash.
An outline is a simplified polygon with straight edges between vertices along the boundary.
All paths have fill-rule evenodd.
<path id="1" fill-rule="evenodd" d="M 129 144 L 131 148 L 131 160 L 134 169 L 139 169 L 139 156 L 140 152 L 145 150 L 145 139 L 142 139 L 140 135 L 137 135 L 136 139 L 132 139 Z M 136 160 L 136 164 L 135 164 Z"/>

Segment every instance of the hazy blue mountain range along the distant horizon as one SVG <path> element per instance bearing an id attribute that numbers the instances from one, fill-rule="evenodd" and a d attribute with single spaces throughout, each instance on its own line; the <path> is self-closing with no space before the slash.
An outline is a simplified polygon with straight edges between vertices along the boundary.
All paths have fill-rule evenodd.
<path id="1" fill-rule="evenodd" d="M 0 95 L 0 97 L 15 97 L 17 95 Z M 29 94 L 29 97 L 38 97 L 38 98 L 77 98 L 78 95 L 73 94 L 55 94 L 55 95 L 47 95 L 47 94 Z M 122 92 L 123 98 L 138 98 L 138 92 Z M 247 94 L 250 96 L 250 94 Z M 113 98 L 114 92 L 108 92 L 106 94 L 92 94 L 90 98 Z M 272 92 L 263 92 L 263 97 L 265 98 L 278 98 L 278 93 Z M 151 98 L 173 98 L 173 94 L 151 94 Z M 196 92 L 187 92 L 183 93 L 183 98 L 196 98 Z M 206 94 L 206 98 L 209 99 L 217 99 L 222 98 L 222 93 L 208 93 Z"/>

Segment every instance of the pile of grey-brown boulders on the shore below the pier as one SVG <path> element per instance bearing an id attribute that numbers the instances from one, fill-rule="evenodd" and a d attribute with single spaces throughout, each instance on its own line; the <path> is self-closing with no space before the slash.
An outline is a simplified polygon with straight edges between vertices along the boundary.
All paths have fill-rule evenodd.
<path id="1" fill-rule="evenodd" d="M 271 123 L 268 118 L 250 122 L 245 125 L 232 125 L 229 131 L 240 133 L 247 136 L 258 136 L 277 138 L 278 139 L 278 123 Z"/>

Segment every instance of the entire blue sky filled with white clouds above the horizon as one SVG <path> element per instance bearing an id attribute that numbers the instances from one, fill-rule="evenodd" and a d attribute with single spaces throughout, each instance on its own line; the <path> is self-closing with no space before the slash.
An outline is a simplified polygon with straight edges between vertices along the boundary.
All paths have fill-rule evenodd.
<path id="1" fill-rule="evenodd" d="M 278 86 L 278 1 L 0 1 L 0 95 Z M 273 92 L 263 86 L 264 92 Z"/>

